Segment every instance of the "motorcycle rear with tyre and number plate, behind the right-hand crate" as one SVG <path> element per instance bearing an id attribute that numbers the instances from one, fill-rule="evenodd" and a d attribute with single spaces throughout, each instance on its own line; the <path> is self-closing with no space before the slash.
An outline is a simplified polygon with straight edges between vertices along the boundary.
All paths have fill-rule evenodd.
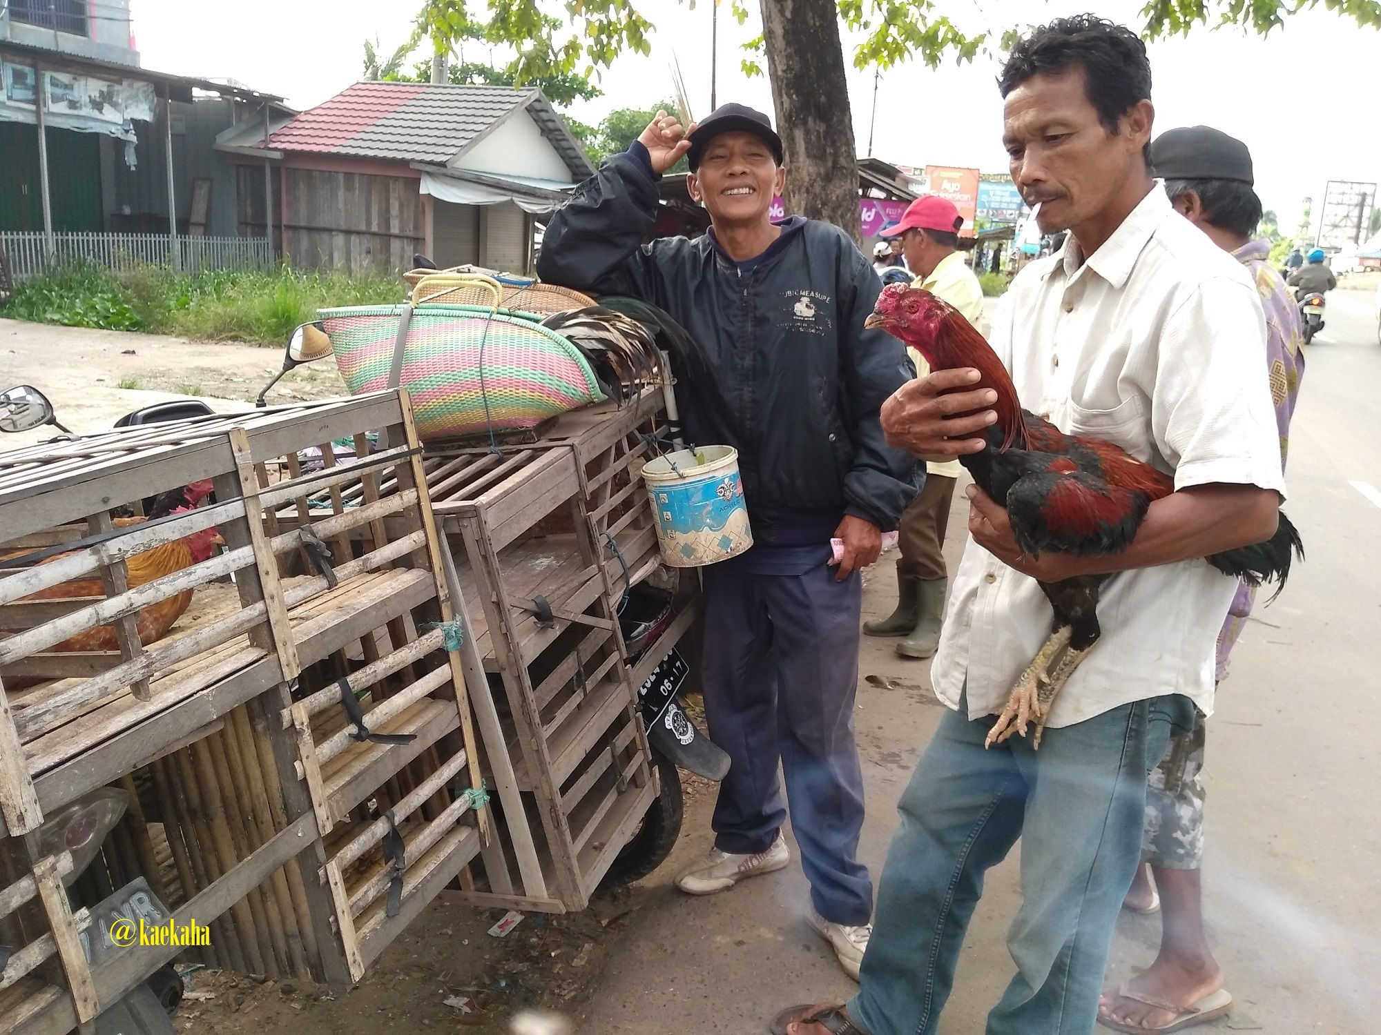
<path id="1" fill-rule="evenodd" d="M 630 665 L 659 650 L 657 639 L 675 615 L 670 593 L 646 584 L 628 591 L 619 613 L 619 628 Z M 681 708 L 678 698 L 689 675 L 689 662 L 679 649 L 673 647 L 638 687 L 638 712 L 648 731 L 648 747 L 661 787 L 642 817 L 642 825 L 609 867 L 606 879 L 612 883 L 639 880 L 671 854 L 684 816 L 681 769 L 714 781 L 724 780 L 729 771 L 729 756 Z"/>

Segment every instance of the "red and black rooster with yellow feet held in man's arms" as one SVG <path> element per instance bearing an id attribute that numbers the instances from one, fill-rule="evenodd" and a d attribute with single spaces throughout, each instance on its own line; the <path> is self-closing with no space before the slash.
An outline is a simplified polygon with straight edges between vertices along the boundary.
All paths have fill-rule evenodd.
<path id="1" fill-rule="evenodd" d="M 920 351 L 935 371 L 884 406 L 888 440 L 917 455 L 960 458 L 979 489 L 971 494 L 975 540 L 1036 578 L 1055 613 L 989 744 L 1025 736 L 1034 720 L 1040 745 L 1055 694 L 1101 636 L 1097 606 L 1110 573 L 1199 556 L 1251 585 L 1283 584 L 1291 553 L 1302 553 L 1294 526 L 1271 504 L 1273 494 L 1236 484 L 1175 493 L 1171 475 L 1121 447 L 1065 435 L 1023 410 L 983 335 L 931 293 L 888 286 L 869 326 Z M 1240 516 L 1242 495 L 1258 497 L 1248 516 L 1259 522 L 1201 520 L 1215 509 Z M 1196 524 L 1203 531 L 1186 542 L 1182 529 Z"/>

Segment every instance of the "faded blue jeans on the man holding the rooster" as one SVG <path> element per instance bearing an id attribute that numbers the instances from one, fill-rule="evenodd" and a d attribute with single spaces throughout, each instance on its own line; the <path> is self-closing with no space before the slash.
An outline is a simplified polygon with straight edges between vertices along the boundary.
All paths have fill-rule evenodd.
<path id="1" fill-rule="evenodd" d="M 964 704 L 961 702 L 961 708 Z M 983 748 L 993 716 L 949 712 L 902 795 L 873 938 L 849 1016 L 869 1035 L 932 1035 L 983 875 L 1022 842 L 1016 974 L 987 1035 L 1090 1035 L 1113 925 L 1141 858 L 1146 777 L 1185 697 L 1113 708 Z"/>

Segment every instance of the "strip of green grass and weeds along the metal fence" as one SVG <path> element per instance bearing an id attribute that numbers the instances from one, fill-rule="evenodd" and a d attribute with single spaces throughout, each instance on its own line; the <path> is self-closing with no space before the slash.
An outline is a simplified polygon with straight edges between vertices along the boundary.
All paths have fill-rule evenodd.
<path id="1" fill-rule="evenodd" d="M 403 301 L 396 277 L 344 273 L 206 270 L 159 266 L 110 272 L 91 262 L 55 266 L 15 286 L 0 316 L 68 327 L 180 334 L 196 341 L 280 346 L 318 309 Z"/>

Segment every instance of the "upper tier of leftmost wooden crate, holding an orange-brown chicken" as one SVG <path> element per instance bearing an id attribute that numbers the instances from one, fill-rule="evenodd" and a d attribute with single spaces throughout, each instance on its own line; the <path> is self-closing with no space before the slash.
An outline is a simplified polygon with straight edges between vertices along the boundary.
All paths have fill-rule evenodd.
<path id="1" fill-rule="evenodd" d="M 400 396 L 383 395 L 149 425 L 0 455 L 0 529 L 10 541 L 75 522 L 94 530 L 46 551 L 11 546 L 0 559 L 0 834 L 32 829 L 46 807 L 137 769 L 229 708 L 297 678 L 304 665 L 371 631 L 381 602 L 436 596 L 423 529 L 337 566 L 330 577 L 284 584 L 275 558 L 311 544 L 301 530 L 273 534 L 262 520 L 265 509 L 333 479 L 359 477 L 323 468 L 265 487 L 258 472 L 268 464 L 389 426 L 399 444 L 370 460 L 405 458 L 412 448 L 402 435 L 405 407 Z M 199 480 L 215 486 L 214 505 L 110 527 L 110 508 Z M 417 509 L 417 490 L 351 508 L 313 530 L 325 538 L 360 524 L 384 527 L 388 515 L 409 506 Z M 213 529 L 228 549 L 192 560 L 184 541 Z M 178 546 L 166 574 L 144 573 L 145 581 L 130 586 L 131 566 Z M 186 622 L 152 643 L 130 628 L 135 615 L 175 607 L 228 575 L 239 588 L 239 606 L 228 613 Z M 65 586 L 80 596 L 72 599 Z M 117 650 L 52 650 L 112 624 Z M 43 682 L 14 686 L 19 680 Z"/>

